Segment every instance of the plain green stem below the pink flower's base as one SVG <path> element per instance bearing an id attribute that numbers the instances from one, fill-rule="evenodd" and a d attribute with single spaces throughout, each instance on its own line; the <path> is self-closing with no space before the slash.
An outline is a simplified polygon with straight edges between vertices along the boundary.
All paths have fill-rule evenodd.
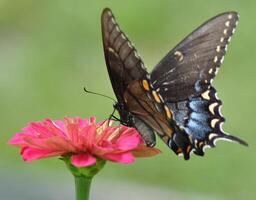
<path id="1" fill-rule="evenodd" d="M 76 200 L 89 200 L 91 178 L 75 176 Z"/>

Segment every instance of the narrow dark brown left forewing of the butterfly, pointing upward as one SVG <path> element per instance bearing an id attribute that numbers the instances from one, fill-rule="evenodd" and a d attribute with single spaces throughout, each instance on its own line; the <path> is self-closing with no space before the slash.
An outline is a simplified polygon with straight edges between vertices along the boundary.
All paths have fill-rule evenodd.
<path id="1" fill-rule="evenodd" d="M 123 93 L 129 83 L 143 78 L 147 72 L 136 49 L 120 30 L 110 9 L 103 11 L 101 23 L 108 73 L 118 101 L 123 103 Z"/>

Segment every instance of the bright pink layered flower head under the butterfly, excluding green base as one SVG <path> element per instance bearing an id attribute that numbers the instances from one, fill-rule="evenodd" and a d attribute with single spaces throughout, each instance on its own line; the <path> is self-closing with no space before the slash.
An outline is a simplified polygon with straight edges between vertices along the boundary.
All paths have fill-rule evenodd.
<path id="1" fill-rule="evenodd" d="M 160 151 L 147 147 L 134 128 L 111 126 L 112 121 L 95 122 L 82 118 L 45 119 L 32 122 L 9 144 L 21 148 L 25 161 L 51 156 L 71 155 L 76 167 L 94 165 L 96 158 L 118 163 L 132 163 L 135 157 L 153 156 Z"/>

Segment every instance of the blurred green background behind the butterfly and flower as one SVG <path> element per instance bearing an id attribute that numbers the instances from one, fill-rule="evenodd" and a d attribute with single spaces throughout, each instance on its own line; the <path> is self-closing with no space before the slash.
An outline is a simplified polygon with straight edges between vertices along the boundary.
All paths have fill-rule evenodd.
<path id="1" fill-rule="evenodd" d="M 184 161 L 159 141 L 160 156 L 137 160 L 133 165 L 108 163 L 95 184 L 113 180 L 113 185 L 132 186 L 136 182 L 136 187 L 143 188 L 138 199 L 150 199 L 144 185 L 185 194 L 186 198 L 196 194 L 255 199 L 253 0 L 0 0 L 0 199 L 16 199 L 15 195 L 19 199 L 39 200 L 44 195 L 44 199 L 57 199 L 47 198 L 51 192 L 72 199 L 72 194 L 70 198 L 65 195 L 73 190 L 72 176 L 61 161 L 52 158 L 24 163 L 18 149 L 6 143 L 29 121 L 67 115 L 95 115 L 102 120 L 112 112 L 111 101 L 83 92 L 87 86 L 114 97 L 102 50 L 100 15 L 104 7 L 113 10 L 149 70 L 205 20 L 220 12 L 238 11 L 240 22 L 214 85 L 224 102 L 224 129 L 248 141 L 250 147 L 219 142 L 205 157 Z M 123 199 L 129 197 L 129 184 Z M 112 190 L 112 199 L 116 199 L 115 188 Z M 158 199 L 175 196 L 161 196 L 160 192 Z"/>

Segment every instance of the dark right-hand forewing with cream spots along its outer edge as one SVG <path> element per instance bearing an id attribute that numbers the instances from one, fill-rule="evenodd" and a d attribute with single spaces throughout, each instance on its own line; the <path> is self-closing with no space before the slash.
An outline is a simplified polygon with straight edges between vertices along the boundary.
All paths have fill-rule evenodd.
<path id="1" fill-rule="evenodd" d="M 236 12 L 220 14 L 192 32 L 154 68 L 151 82 L 165 101 L 196 96 L 209 88 L 224 59 L 238 21 Z"/>

